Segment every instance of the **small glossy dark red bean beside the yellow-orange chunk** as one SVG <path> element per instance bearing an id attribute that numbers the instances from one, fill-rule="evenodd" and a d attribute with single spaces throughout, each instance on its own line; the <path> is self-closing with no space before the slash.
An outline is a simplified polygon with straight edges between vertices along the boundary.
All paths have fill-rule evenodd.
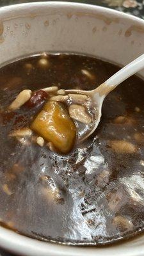
<path id="1" fill-rule="evenodd" d="M 29 108 L 33 108 L 35 106 L 41 105 L 45 102 L 45 99 L 47 99 L 47 93 L 44 92 L 43 90 L 39 90 L 37 92 L 34 92 L 31 95 L 31 99 L 29 99 L 25 106 L 29 107 Z"/>

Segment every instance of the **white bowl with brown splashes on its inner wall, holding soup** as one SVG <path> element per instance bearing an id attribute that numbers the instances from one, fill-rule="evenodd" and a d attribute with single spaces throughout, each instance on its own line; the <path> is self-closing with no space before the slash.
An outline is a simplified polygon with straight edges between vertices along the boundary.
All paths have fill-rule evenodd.
<path id="1" fill-rule="evenodd" d="M 99 6 L 41 2 L 0 8 L 1 67 L 15 58 L 44 51 L 91 54 L 125 65 L 144 52 L 143 42 L 143 20 Z M 143 242 L 141 236 L 103 248 L 62 246 L 0 227 L 0 246 L 20 255 L 140 256 L 144 255 Z"/>

